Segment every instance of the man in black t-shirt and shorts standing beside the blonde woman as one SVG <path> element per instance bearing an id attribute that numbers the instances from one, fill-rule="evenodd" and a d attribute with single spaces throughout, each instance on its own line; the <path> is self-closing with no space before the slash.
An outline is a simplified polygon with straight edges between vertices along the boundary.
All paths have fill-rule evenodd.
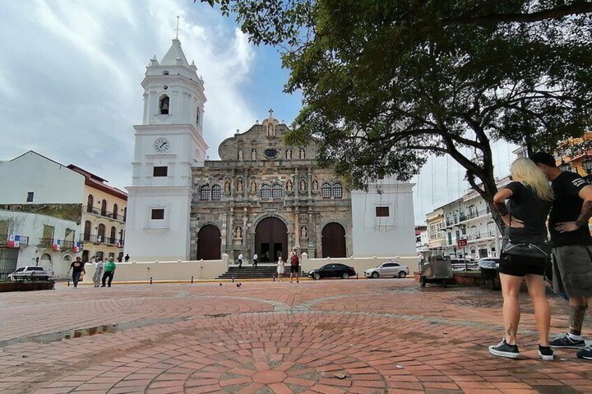
<path id="1" fill-rule="evenodd" d="M 553 287 L 570 299 L 570 332 L 550 342 L 551 347 L 581 348 L 586 308 L 592 310 L 592 185 L 574 172 L 562 172 L 549 153 L 535 153 L 533 160 L 552 182 L 554 202 L 549 214 L 553 246 Z M 592 346 L 577 353 L 592 360 Z"/>

